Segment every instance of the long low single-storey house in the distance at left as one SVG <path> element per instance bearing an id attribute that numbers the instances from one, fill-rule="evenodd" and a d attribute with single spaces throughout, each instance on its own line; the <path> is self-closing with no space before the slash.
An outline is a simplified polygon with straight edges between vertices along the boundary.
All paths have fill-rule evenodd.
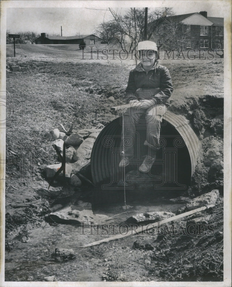
<path id="1" fill-rule="evenodd" d="M 101 44 L 102 39 L 91 35 L 79 36 L 46 36 L 46 33 L 41 33 L 41 36 L 35 40 L 35 44 L 80 44 L 84 40 L 86 45 Z"/>

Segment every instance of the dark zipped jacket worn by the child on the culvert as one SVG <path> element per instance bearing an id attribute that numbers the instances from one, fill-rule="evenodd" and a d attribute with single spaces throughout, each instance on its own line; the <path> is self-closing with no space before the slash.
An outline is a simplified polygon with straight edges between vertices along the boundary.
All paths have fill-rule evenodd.
<path id="1" fill-rule="evenodd" d="M 156 61 L 152 69 L 146 72 L 139 63 L 130 71 L 125 98 L 127 102 L 132 99 L 151 99 L 156 104 L 169 105 L 172 91 L 172 80 L 166 67 Z"/>

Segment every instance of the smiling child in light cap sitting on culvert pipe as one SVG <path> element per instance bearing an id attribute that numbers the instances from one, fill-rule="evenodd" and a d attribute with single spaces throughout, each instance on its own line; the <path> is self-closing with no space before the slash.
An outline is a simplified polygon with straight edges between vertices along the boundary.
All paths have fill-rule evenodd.
<path id="1" fill-rule="evenodd" d="M 130 71 L 125 98 L 131 104 L 123 115 L 122 136 L 135 142 L 135 126 L 144 125 L 141 119 L 145 115 L 147 155 L 139 166 L 141 172 L 149 172 L 159 150 L 160 123 L 166 113 L 166 106 L 172 94 L 172 80 L 168 69 L 158 62 L 158 50 L 155 42 L 138 43 L 140 63 Z M 119 163 L 125 167 L 134 157 L 134 147 L 124 146 L 124 158 Z"/>

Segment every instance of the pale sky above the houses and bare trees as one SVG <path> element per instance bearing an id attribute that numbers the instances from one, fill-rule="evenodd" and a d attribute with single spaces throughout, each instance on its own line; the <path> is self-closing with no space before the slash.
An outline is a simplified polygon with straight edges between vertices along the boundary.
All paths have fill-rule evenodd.
<path id="1" fill-rule="evenodd" d="M 107 7 L 125 11 L 125 7 L 173 7 L 174 12 L 186 14 L 207 11 L 210 17 L 224 17 L 223 5 L 216 0 L 168 0 L 168 1 L 9 1 L 6 9 L 6 29 L 10 32 L 34 31 L 37 33 L 93 34 L 95 28 L 104 21 L 112 19 Z M 8 2 L 8 3 L 9 3 Z M 165 3 L 164 3 L 165 2 Z M 49 3 L 51 5 L 49 5 Z M 108 4 L 108 5 L 107 5 Z M 111 5 L 109 5 L 111 4 Z M 27 6 L 27 7 L 26 7 Z M 46 7 L 47 6 L 47 7 Z M 50 6 L 50 7 L 49 7 Z M 58 7 L 59 6 L 59 7 Z M 122 9 L 119 7 L 123 7 Z M 219 8 L 220 9 L 219 9 Z"/>

